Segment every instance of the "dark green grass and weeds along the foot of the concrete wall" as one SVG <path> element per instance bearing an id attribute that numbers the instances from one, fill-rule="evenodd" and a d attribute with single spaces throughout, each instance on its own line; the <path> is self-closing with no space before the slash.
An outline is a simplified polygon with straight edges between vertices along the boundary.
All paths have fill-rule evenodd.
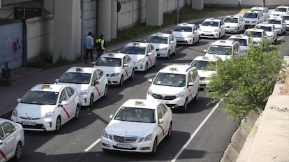
<path id="1" fill-rule="evenodd" d="M 185 22 L 187 20 L 193 20 L 202 17 L 222 16 L 224 14 L 233 15 L 235 13 L 239 13 L 240 10 L 242 10 L 242 8 L 232 8 L 225 6 L 208 6 L 205 7 L 203 10 L 193 10 L 189 7 L 184 7 L 179 10 L 179 22 Z M 169 25 L 175 24 L 176 15 L 177 15 L 176 11 L 172 13 L 164 13 L 163 25 L 161 25 L 161 27 L 145 26 L 145 24 L 135 24 L 133 27 L 117 31 L 117 39 L 113 39 L 110 42 L 106 42 L 107 47 L 115 45 L 117 43 L 122 43 L 125 40 L 129 40 L 137 36 L 142 36 L 152 31 L 156 31 L 157 29 L 161 29 L 162 27 L 167 27 Z M 28 66 L 36 68 L 52 68 L 56 66 L 75 64 L 80 61 L 82 61 L 81 58 L 78 58 L 75 61 L 68 61 L 66 58 L 60 58 L 56 64 L 52 64 L 52 55 L 41 54 L 40 56 L 35 57 L 34 59 L 30 59 L 28 61 Z"/>

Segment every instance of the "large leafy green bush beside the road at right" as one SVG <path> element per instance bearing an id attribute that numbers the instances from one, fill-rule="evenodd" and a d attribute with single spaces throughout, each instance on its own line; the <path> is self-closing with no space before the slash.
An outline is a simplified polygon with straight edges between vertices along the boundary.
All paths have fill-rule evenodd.
<path id="1" fill-rule="evenodd" d="M 249 54 L 235 56 L 212 64 L 217 73 L 212 75 L 207 95 L 212 102 L 223 103 L 232 119 L 241 120 L 251 110 L 260 112 L 265 108 L 276 81 L 281 80 L 280 71 L 286 65 L 280 57 L 281 45 L 262 40 L 261 45 L 251 45 Z"/>

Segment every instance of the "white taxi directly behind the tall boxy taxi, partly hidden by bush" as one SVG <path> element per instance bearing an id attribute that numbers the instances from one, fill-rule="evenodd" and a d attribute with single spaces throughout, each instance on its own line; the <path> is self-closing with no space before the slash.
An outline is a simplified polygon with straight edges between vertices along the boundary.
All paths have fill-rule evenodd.
<path id="1" fill-rule="evenodd" d="M 200 75 L 200 88 L 205 88 L 209 84 L 209 78 L 216 73 L 214 69 L 209 68 L 209 64 L 214 62 L 214 59 L 209 59 L 208 57 L 198 56 L 191 61 L 191 66 L 198 69 L 198 74 Z"/>

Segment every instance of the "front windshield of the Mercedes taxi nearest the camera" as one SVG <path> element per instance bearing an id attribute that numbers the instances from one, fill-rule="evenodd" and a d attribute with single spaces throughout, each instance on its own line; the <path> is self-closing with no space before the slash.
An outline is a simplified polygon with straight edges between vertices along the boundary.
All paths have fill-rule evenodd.
<path id="1" fill-rule="evenodd" d="M 141 123 L 155 123 L 154 109 L 121 107 L 114 117 L 115 120 Z"/>

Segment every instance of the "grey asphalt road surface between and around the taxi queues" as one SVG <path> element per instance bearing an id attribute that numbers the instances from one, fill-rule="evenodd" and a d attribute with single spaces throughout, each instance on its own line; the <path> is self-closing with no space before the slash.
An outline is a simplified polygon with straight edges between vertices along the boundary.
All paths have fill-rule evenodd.
<path id="1" fill-rule="evenodd" d="M 227 39 L 226 34 L 223 39 Z M 279 36 L 279 45 L 288 36 Z M 108 97 L 96 101 L 93 108 L 82 108 L 77 120 L 69 121 L 58 133 L 25 131 L 23 162 L 41 161 L 220 161 L 237 122 L 228 119 L 222 105 L 210 104 L 210 98 L 201 91 L 197 103 L 189 110 L 173 113 L 172 138 L 165 139 L 157 148 L 156 156 L 126 152 L 103 152 L 101 133 L 119 106 L 129 98 L 145 98 L 150 85 L 149 78 L 167 64 L 189 64 L 195 57 L 204 55 L 214 39 L 201 39 L 193 46 L 179 46 L 177 54 L 167 59 L 158 59 L 156 67 L 147 73 L 135 73 L 133 80 L 124 82 L 124 87 L 110 86 Z M 288 55 L 288 46 L 282 56 Z M 54 80 L 54 78 L 52 78 Z"/>

